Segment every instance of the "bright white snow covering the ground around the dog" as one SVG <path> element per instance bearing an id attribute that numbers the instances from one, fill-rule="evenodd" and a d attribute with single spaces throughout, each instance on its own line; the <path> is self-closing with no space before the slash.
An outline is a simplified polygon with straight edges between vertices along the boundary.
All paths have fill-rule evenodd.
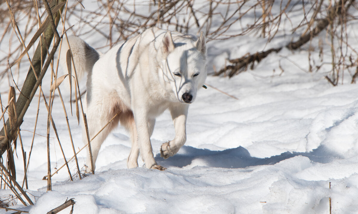
<path id="1" fill-rule="evenodd" d="M 354 40 L 352 29 L 358 28 L 357 22 L 348 24 L 348 36 Z M 324 38 L 325 32 L 320 37 Z M 272 45 L 287 41 L 289 36 L 278 37 Z M 318 39 L 314 42 L 318 44 Z M 106 40 L 88 43 L 101 47 Z M 263 50 L 265 41 L 248 35 L 214 40 L 207 45 L 208 69 L 212 70 L 212 63 L 220 68 L 227 57 Z M 350 45 L 358 47 L 356 41 Z M 324 52 L 330 52 L 328 45 Z M 27 190 L 36 203 L 24 207 L 18 202 L 11 208 L 47 213 L 74 198 L 73 213 L 81 214 L 329 213 L 331 198 L 332 213 L 357 213 L 358 87 L 348 83 L 348 73 L 344 84 L 333 87 L 324 78 L 324 72 L 329 70 L 305 72 L 309 68 L 307 55 L 308 45 L 295 52 L 283 49 L 263 59 L 255 69 L 231 79 L 208 76 L 209 86 L 238 99 L 212 87 L 202 89 L 190 104 L 187 143 L 166 160 L 160 157 L 159 148 L 174 137 L 174 128 L 169 112 L 164 112 L 156 121 L 151 141 L 156 161 L 167 170 L 126 169 L 130 142 L 128 133 L 119 126 L 101 147 L 95 175 L 68 181 L 64 167 L 53 176 L 52 191 L 48 192 L 47 181 L 42 180 L 47 175 L 47 110 L 40 103 Z M 23 66 L 24 72 L 26 67 Z M 6 84 L 1 83 L 1 97 L 7 96 Z M 48 86 L 43 88 L 48 94 Z M 63 88 L 62 93 L 69 112 L 69 96 Z M 25 151 L 31 146 L 37 102 L 38 95 L 21 125 Z M 59 97 L 55 97 L 52 112 L 66 157 L 71 157 L 72 146 Z M 81 127 L 75 116 L 69 116 L 69 122 L 74 145 L 81 148 Z M 51 137 L 53 172 L 64 161 L 53 132 Z M 80 166 L 85 155 L 78 155 Z M 22 183 L 20 150 L 18 156 L 18 181 Z M 75 162 L 69 166 L 75 174 Z M 0 190 L 0 195 L 8 194 L 12 192 Z M 61 213 L 69 213 L 70 209 Z"/>

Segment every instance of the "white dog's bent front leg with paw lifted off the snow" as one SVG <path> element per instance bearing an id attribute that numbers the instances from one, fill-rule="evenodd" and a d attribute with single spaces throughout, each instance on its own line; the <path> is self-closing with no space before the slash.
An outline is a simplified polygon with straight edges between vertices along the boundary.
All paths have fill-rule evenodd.
<path id="1" fill-rule="evenodd" d="M 164 157 L 164 159 L 175 155 L 187 141 L 185 124 L 187 123 L 188 107 L 188 104 L 182 103 L 169 106 L 171 118 L 174 122 L 175 137 L 174 140 L 161 145 L 160 156 Z"/>

